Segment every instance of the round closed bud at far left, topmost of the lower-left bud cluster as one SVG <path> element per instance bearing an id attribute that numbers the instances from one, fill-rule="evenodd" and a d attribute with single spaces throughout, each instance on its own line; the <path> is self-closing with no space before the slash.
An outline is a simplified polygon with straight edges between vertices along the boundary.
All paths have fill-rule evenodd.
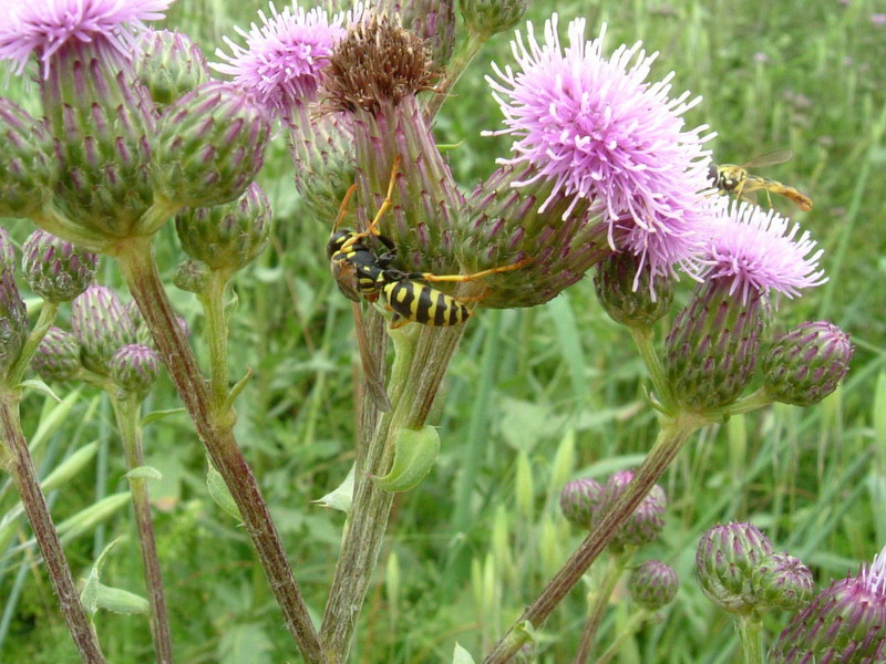
<path id="1" fill-rule="evenodd" d="M 99 257 L 45 230 L 22 246 L 24 279 L 47 302 L 70 302 L 92 283 Z"/>

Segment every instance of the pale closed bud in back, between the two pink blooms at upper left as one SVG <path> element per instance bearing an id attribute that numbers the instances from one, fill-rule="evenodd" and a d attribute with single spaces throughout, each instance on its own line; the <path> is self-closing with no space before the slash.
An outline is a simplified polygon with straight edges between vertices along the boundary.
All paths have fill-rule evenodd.
<path id="1" fill-rule="evenodd" d="M 136 52 L 135 74 L 159 108 L 210 79 L 203 51 L 182 32 L 145 30 Z"/>

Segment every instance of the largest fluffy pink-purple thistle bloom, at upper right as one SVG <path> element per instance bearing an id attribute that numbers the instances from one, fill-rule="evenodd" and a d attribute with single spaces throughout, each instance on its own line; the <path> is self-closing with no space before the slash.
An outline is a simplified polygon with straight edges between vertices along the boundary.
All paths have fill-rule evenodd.
<path id="1" fill-rule="evenodd" d="M 606 208 L 609 243 L 648 262 L 653 276 L 689 267 L 699 248 L 699 230 L 709 215 L 707 126 L 683 127 L 681 115 L 700 97 L 686 92 L 669 98 L 671 75 L 649 83 L 656 54 L 641 43 L 619 46 L 606 59 L 602 38 L 586 41 L 585 20 L 569 23 L 569 46 L 557 35 L 557 15 L 545 23 L 544 43 L 517 33 L 512 51 L 521 71 L 494 66 L 502 80 L 487 76 L 513 134 L 516 156 L 528 162 L 533 178 L 555 183 L 542 209 L 558 194 L 598 199 Z M 567 209 L 566 216 L 571 211 Z"/>

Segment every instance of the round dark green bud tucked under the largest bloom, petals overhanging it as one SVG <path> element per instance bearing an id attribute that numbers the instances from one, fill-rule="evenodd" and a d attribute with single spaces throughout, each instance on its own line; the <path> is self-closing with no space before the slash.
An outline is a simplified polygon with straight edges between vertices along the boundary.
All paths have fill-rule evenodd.
<path id="1" fill-rule="evenodd" d="M 649 266 L 629 251 L 597 263 L 594 288 L 609 318 L 631 328 L 651 328 L 673 302 L 673 282 L 659 278 L 653 284 Z"/>

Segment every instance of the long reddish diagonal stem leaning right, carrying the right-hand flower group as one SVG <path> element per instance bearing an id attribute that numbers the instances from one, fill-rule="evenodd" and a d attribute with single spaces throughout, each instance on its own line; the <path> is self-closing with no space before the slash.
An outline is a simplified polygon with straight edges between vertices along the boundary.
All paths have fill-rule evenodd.
<path id="1" fill-rule="evenodd" d="M 545 622 L 591 563 L 606 550 L 625 521 L 668 469 L 689 436 L 707 423 L 708 419 L 703 416 L 686 412 L 673 417 L 661 417 L 661 428 L 656 444 L 646 455 L 633 480 L 538 598 L 495 644 L 492 652 L 483 660 L 483 664 L 504 664 L 522 647 L 526 640 L 522 625 L 528 622 L 537 629 Z"/>

